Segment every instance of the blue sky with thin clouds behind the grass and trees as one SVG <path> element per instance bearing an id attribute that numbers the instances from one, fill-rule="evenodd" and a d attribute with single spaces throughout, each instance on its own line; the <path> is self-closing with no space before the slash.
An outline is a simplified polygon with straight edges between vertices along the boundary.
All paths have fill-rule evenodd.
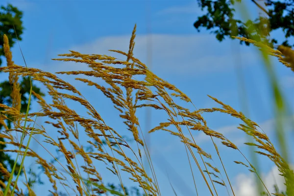
<path id="1" fill-rule="evenodd" d="M 25 31 L 22 36 L 23 41 L 20 44 L 28 66 L 50 72 L 87 70 L 86 65 L 50 60 L 58 58 L 57 54 L 68 53 L 68 50 L 123 58 L 109 52 L 108 49 L 127 51 L 129 38 L 136 23 L 137 37 L 134 49 L 136 58 L 146 63 L 159 77 L 186 93 L 196 108 L 219 107 L 207 96 L 209 94 L 238 111 L 244 111 L 240 96 L 246 95 L 245 114 L 257 122 L 269 134 L 271 141 L 276 144 L 273 97 L 259 51 L 254 46 L 240 45 L 236 40 L 225 40 L 219 43 L 215 36 L 209 34 L 205 29 L 198 33 L 193 23 L 197 16 L 201 15 L 201 10 L 195 1 L 19 0 L 10 2 L 24 11 Z M 6 4 L 4 1 L 1 3 Z M 250 1 L 246 1 L 245 4 L 250 8 L 252 15 L 256 15 L 256 7 Z M 274 32 L 274 36 L 279 37 L 282 34 Z M 15 64 L 24 65 L 17 44 L 12 48 L 12 53 Z M 272 62 L 288 104 L 287 119 L 293 120 L 293 72 L 275 59 Z M 241 80 L 237 74 L 240 69 L 245 83 L 245 89 L 242 90 L 239 86 Z M 4 74 L 0 76 L 0 80 L 6 78 Z M 60 78 L 74 84 L 96 107 L 106 123 L 117 129 L 122 126 L 119 123 L 113 124 L 113 116 L 118 112 L 111 106 L 109 100 L 101 97 L 101 93 L 99 94 L 97 91 L 97 95 L 93 94 L 93 88 L 85 87 L 84 84 L 75 81 L 73 77 L 60 76 Z M 101 82 L 99 79 L 95 79 L 95 81 Z M 49 98 L 46 97 L 46 100 Z M 184 103 L 183 106 L 191 110 L 194 109 L 193 106 Z M 32 107 L 33 110 L 40 109 L 34 105 Z M 69 107 L 76 107 L 78 113 L 83 114 L 84 112 L 85 114 L 85 110 L 79 111 L 80 108 L 74 103 L 69 103 Z M 164 113 L 152 110 L 151 121 L 146 122 L 146 114 L 146 109 L 138 110 L 144 132 L 146 129 L 157 126 L 159 122 L 166 122 L 168 118 Z M 204 117 L 211 129 L 225 134 L 249 157 L 248 148 L 243 144 L 246 137 L 236 129 L 240 123 L 238 120 L 218 113 L 205 114 Z M 38 122 L 45 126 L 44 120 L 38 119 Z M 289 157 L 294 163 L 293 121 L 287 124 L 285 130 L 290 147 Z M 53 132 L 53 130 L 51 131 Z M 215 155 L 208 137 L 199 132 L 193 134 L 201 148 Z M 166 176 L 167 172 L 179 196 L 196 195 L 183 144 L 177 138 L 163 131 L 151 134 L 149 142 L 162 196 L 172 195 L 172 188 Z M 38 144 L 32 143 L 31 145 L 38 152 L 43 152 Z M 250 192 L 254 190 L 252 175 L 243 166 L 233 163 L 234 160 L 243 161 L 242 157 L 231 149 L 222 146 L 219 148 L 224 163 L 229 168 L 228 175 L 232 179 L 237 195 L 252 195 Z M 215 161 L 220 168 L 216 156 Z M 263 165 L 262 174 L 266 182 L 272 184 L 273 178 L 270 176 L 278 177 L 276 168 L 265 158 L 260 158 L 260 163 Z M 197 173 L 196 165 L 194 167 L 195 174 L 199 176 L 196 178 L 199 195 L 206 195 L 208 190 Z M 103 176 L 103 179 L 105 182 L 113 180 L 107 175 Z M 281 184 L 279 179 L 277 178 L 277 181 Z M 127 181 L 126 185 L 133 185 L 133 183 Z M 43 195 L 44 190 L 48 189 L 50 186 L 44 185 L 36 187 L 35 191 L 37 194 Z M 222 187 L 218 186 L 218 189 L 220 195 L 226 193 Z"/>

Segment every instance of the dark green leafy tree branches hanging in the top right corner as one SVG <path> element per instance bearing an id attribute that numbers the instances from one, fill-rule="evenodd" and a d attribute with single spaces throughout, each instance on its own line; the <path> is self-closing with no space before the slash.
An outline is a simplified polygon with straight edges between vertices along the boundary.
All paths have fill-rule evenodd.
<path id="1" fill-rule="evenodd" d="M 216 38 L 221 42 L 225 37 L 239 36 L 255 41 L 266 41 L 271 47 L 278 44 L 276 39 L 269 39 L 270 32 L 281 29 L 285 40 L 282 43 L 289 44 L 294 39 L 294 0 L 265 0 L 264 9 L 257 0 L 251 0 L 253 6 L 257 6 L 265 16 L 259 16 L 254 21 L 241 21 L 235 19 L 235 9 L 233 5 L 241 0 L 197 0 L 201 10 L 206 14 L 198 17 L 194 23 L 195 28 L 200 31 L 200 27 L 210 29 L 216 34 Z M 267 11 L 268 10 L 268 11 Z M 241 41 L 241 44 L 243 41 Z M 249 43 L 245 43 L 249 45 Z"/>

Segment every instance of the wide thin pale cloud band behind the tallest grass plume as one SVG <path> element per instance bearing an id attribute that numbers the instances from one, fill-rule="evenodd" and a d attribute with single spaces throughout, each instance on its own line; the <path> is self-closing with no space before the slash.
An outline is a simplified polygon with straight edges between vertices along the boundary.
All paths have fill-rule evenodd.
<path id="1" fill-rule="evenodd" d="M 125 59 L 120 54 L 109 52 L 109 49 L 128 51 L 130 36 L 109 36 L 71 47 L 72 50 L 84 54 L 106 54 Z M 231 53 L 230 45 L 219 44 L 211 35 L 169 35 L 152 34 L 137 35 L 135 39 L 134 56 L 147 62 L 147 42 L 152 45 L 152 70 L 166 74 L 195 75 L 216 71 L 227 71 L 234 67 L 237 54 Z M 219 47 L 213 48 L 212 45 Z M 254 51 L 245 51 L 241 55 L 243 64 L 252 65 L 257 63 L 258 55 Z M 60 69 L 58 69 L 60 70 Z"/>

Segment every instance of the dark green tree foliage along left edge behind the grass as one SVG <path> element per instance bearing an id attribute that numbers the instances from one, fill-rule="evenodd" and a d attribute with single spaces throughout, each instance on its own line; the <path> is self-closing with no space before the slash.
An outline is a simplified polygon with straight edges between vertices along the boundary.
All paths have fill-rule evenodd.
<path id="1" fill-rule="evenodd" d="M 22 34 L 23 34 L 23 22 L 22 22 L 23 12 L 19 11 L 16 7 L 12 6 L 11 4 L 8 4 L 6 7 L 1 6 L 0 8 L 0 57 L 4 56 L 4 50 L 3 50 L 3 36 L 4 34 L 8 37 L 9 46 L 12 47 L 16 42 L 17 39 L 19 41 L 22 40 Z M 0 59 L 0 65 L 2 65 L 2 60 Z M 8 78 L 7 78 L 8 79 Z M 21 112 L 25 113 L 28 103 L 28 95 L 30 90 L 30 82 L 28 78 L 23 78 L 22 81 L 20 81 L 20 88 L 21 88 L 21 94 L 22 94 L 22 107 Z M 8 80 L 0 83 L 0 104 L 4 104 L 7 106 L 11 106 L 12 99 L 11 99 L 11 90 L 12 86 L 9 84 Z M 41 92 L 40 88 L 33 86 L 33 90 L 44 96 L 44 94 Z M 35 98 L 32 96 L 32 98 Z M 2 109 L 0 108 L 0 111 Z M 9 117 L 9 116 L 8 116 Z M 11 121 L 6 121 L 8 128 L 11 128 Z M 2 128 L 2 125 L 0 125 L 0 130 Z M 3 138 L 0 138 L 0 141 L 3 141 Z M 10 171 L 10 169 L 14 165 L 14 160 L 11 159 L 11 157 L 4 153 L 3 150 L 6 146 L 0 144 L 0 163 Z M 19 165 L 17 165 L 17 168 L 19 168 Z M 18 169 L 16 168 L 15 174 L 18 173 Z M 0 179 L 2 179 L 2 176 L 0 176 Z"/>

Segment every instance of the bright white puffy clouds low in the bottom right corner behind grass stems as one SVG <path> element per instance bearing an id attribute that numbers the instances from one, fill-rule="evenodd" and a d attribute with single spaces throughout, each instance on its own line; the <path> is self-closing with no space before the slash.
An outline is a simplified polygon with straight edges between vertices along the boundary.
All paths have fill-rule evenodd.
<path id="1" fill-rule="evenodd" d="M 285 179 L 280 175 L 277 166 L 272 167 L 267 174 L 262 174 L 262 179 L 270 193 L 275 192 L 274 185 L 277 185 L 280 191 L 286 190 Z M 260 196 L 253 173 L 238 174 L 233 189 L 236 196 Z"/>

